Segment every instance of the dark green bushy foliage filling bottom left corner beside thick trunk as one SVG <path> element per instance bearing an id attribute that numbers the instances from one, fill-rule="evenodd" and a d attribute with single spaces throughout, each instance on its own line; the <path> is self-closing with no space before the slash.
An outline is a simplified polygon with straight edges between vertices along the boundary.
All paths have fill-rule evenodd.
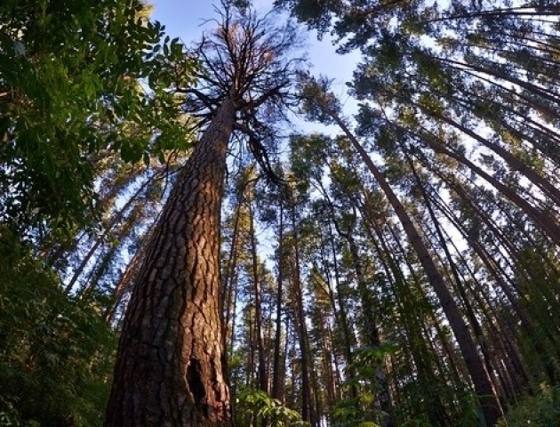
<path id="1" fill-rule="evenodd" d="M 1 230 L 0 425 L 101 425 L 115 336 L 14 241 Z"/>

